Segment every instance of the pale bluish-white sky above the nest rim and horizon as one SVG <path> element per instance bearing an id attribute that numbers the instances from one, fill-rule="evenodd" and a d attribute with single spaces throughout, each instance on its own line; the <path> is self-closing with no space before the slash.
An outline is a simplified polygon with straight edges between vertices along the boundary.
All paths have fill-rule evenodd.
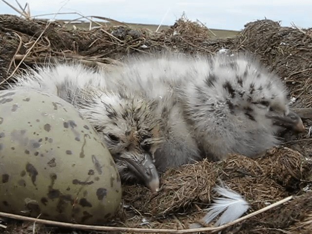
<path id="1" fill-rule="evenodd" d="M 15 0 L 7 0 L 17 6 Z M 200 20 L 209 28 L 240 30 L 254 20 L 280 20 L 282 26 L 293 22 L 312 27 L 312 0 L 18 0 L 30 5 L 32 16 L 57 12 L 79 12 L 123 22 L 172 25 L 183 12 L 190 20 Z M 0 1 L 0 14 L 18 14 Z M 53 18 L 48 16 L 45 18 Z M 78 15 L 59 15 L 75 19 Z"/>

